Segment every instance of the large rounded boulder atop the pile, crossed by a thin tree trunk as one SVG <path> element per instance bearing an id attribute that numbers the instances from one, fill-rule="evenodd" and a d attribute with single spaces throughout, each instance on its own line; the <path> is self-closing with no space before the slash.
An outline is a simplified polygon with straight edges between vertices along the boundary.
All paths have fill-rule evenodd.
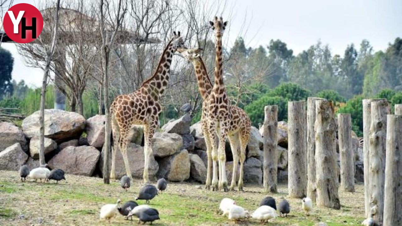
<path id="1" fill-rule="evenodd" d="M 24 134 L 32 138 L 39 136 L 39 111 L 23 121 Z M 58 109 L 45 109 L 45 137 L 63 142 L 77 138 L 85 128 L 85 118 L 75 112 Z"/>

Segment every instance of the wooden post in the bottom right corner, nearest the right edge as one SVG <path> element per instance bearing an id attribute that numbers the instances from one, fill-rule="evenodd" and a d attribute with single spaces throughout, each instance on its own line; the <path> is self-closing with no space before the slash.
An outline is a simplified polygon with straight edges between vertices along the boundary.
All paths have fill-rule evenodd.
<path id="1" fill-rule="evenodd" d="M 386 149 L 384 225 L 402 225 L 402 115 L 387 116 Z"/>

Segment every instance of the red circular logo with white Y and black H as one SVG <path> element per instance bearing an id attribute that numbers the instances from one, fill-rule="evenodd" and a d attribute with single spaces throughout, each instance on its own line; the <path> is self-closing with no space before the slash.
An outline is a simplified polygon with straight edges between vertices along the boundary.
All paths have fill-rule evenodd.
<path id="1" fill-rule="evenodd" d="M 35 6 L 20 3 L 7 10 L 3 18 L 3 26 L 12 41 L 29 43 L 41 34 L 43 17 Z"/>

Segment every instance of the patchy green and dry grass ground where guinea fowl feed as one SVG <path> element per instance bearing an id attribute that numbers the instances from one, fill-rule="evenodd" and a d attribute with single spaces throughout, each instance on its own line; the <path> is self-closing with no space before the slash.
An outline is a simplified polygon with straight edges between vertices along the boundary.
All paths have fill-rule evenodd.
<path id="1" fill-rule="evenodd" d="M 128 192 L 119 187 L 118 181 L 110 185 L 102 179 L 66 175 L 67 181 L 55 183 L 21 182 L 18 172 L 0 171 L 0 225 L 25 226 L 42 225 L 137 225 L 137 221 L 127 222 L 122 216 L 111 220 L 111 224 L 99 220 L 99 210 L 106 203 L 115 203 L 118 198 L 123 202 L 134 200 L 142 182 L 135 180 Z M 155 225 L 236 225 L 218 211 L 219 202 L 224 197 L 236 200 L 238 205 L 252 212 L 266 194 L 256 185 L 244 187 L 245 192 L 212 192 L 197 187 L 195 183 L 169 183 L 168 189 L 151 200 L 150 205 L 158 209 L 161 220 Z M 279 184 L 279 193 L 271 194 L 275 198 L 287 196 L 287 185 Z M 363 185 L 356 185 L 355 193 L 340 192 L 341 209 L 317 208 L 310 216 L 301 210 L 300 199 L 288 199 L 291 213 L 287 218 L 277 218 L 268 225 L 275 226 L 312 226 L 325 222 L 328 226 L 360 225 L 364 216 Z M 145 201 L 139 200 L 139 204 Z M 23 214 L 24 219 L 18 216 Z M 260 225 L 252 219 L 238 223 L 240 225 Z"/>

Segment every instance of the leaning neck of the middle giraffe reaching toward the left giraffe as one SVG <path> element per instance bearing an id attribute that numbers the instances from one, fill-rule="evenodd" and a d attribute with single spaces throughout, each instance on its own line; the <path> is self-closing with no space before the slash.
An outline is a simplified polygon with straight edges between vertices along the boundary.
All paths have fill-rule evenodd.
<path id="1" fill-rule="evenodd" d="M 207 68 L 201 57 L 193 59 L 195 75 L 197 76 L 198 90 L 201 97 L 206 100 L 212 91 L 212 82 L 209 80 Z"/>

